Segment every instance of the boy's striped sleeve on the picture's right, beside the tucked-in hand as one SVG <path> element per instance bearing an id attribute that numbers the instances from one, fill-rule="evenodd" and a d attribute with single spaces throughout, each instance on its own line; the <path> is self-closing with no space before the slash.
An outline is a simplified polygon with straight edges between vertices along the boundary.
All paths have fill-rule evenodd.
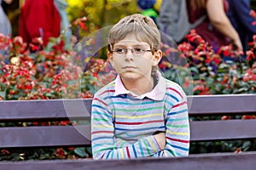
<path id="1" fill-rule="evenodd" d="M 183 97 L 166 115 L 166 149 L 154 157 L 189 155 L 189 114 L 187 98 Z"/>

